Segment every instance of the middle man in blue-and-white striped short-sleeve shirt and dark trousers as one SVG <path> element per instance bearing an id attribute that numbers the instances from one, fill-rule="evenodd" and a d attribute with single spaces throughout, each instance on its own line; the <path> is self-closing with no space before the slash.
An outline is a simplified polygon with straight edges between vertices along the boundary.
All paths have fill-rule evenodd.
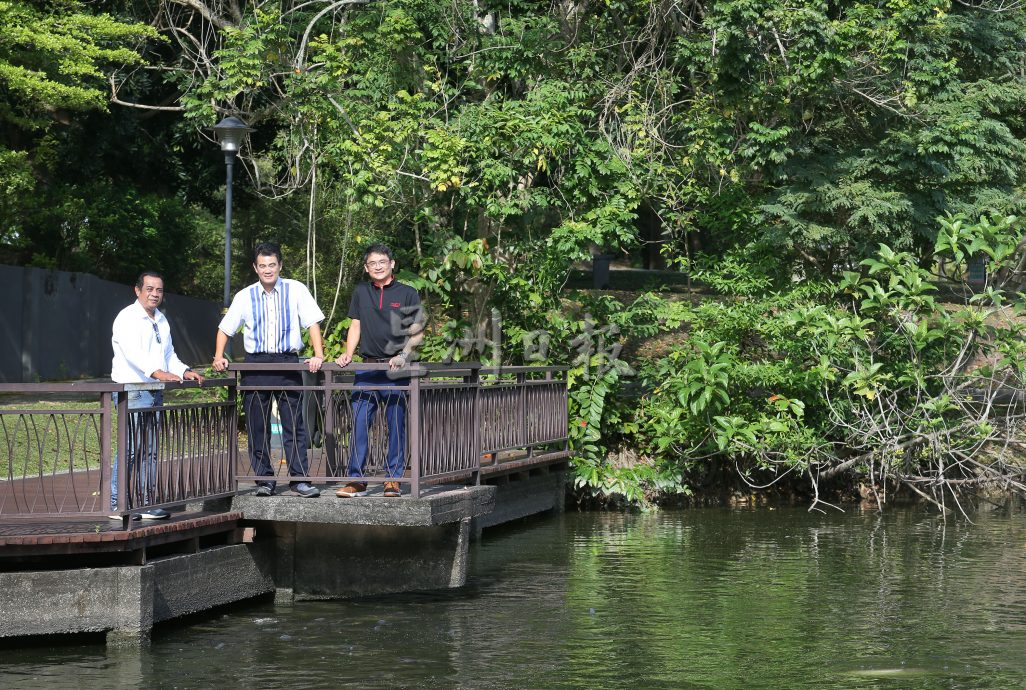
<path id="1" fill-rule="evenodd" d="M 299 362 L 303 350 L 304 328 L 310 331 L 310 344 L 314 356 L 306 360 L 309 370 L 317 372 L 324 361 L 320 322 L 324 314 L 299 281 L 281 278 L 281 248 L 273 242 L 256 245 L 253 252 L 253 271 L 260 279 L 240 290 L 232 300 L 228 313 L 218 326 L 218 339 L 213 354 L 213 368 L 228 368 L 225 347 L 228 338 L 244 327 L 243 340 L 248 363 Z M 308 472 L 307 430 L 303 419 L 303 392 L 289 387 L 303 385 L 299 371 L 252 371 L 242 375 L 242 385 L 259 385 L 259 391 L 244 391 L 243 408 L 246 412 L 246 431 L 249 434 L 249 462 L 256 477 L 273 477 L 271 469 L 271 401 L 278 406 L 281 419 L 282 451 L 288 462 L 291 477 L 305 477 Z M 314 498 L 320 491 L 308 482 L 292 481 L 292 491 L 301 496 Z M 258 496 L 274 493 L 273 481 L 256 484 Z"/>

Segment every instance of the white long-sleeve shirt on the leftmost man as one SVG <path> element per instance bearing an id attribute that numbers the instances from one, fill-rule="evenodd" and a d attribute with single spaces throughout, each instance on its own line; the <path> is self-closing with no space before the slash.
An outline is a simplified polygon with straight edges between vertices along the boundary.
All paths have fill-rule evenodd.
<path id="1" fill-rule="evenodd" d="M 111 346 L 111 378 L 115 383 L 151 383 L 157 380 L 151 374 L 158 369 L 175 376 L 189 369 L 174 353 L 167 319 L 160 310 L 151 319 L 137 299 L 114 319 Z"/>

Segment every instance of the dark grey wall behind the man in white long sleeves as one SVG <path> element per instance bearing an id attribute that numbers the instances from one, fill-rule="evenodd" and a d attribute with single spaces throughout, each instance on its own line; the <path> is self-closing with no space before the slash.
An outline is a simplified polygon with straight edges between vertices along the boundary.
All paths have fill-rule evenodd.
<path id="1" fill-rule="evenodd" d="M 135 299 L 130 285 L 85 273 L 0 266 L 0 382 L 98 378 L 111 373 L 111 325 Z M 221 306 L 165 294 L 179 357 L 206 364 Z"/>

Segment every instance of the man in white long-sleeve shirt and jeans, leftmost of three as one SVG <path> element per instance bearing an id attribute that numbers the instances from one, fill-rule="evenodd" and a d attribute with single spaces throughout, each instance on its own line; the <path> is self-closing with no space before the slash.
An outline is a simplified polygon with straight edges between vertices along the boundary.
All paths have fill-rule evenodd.
<path id="1" fill-rule="evenodd" d="M 111 347 L 114 360 L 111 362 L 111 378 L 115 383 L 152 383 L 155 381 L 176 381 L 183 379 L 198 381 L 203 377 L 190 369 L 174 353 L 171 343 L 171 326 L 164 315 L 157 310 L 164 299 L 164 279 L 158 273 L 147 271 L 135 281 L 135 301 L 125 307 L 114 319 Z M 128 391 L 128 409 L 156 408 L 163 405 L 163 391 Z M 145 503 L 154 497 L 157 481 L 157 424 L 159 413 L 136 412 L 130 415 L 128 425 L 129 473 L 135 470 L 135 487 Z M 135 459 L 145 454 L 145 472 L 135 468 Z M 131 491 L 127 492 L 130 496 Z M 111 472 L 111 510 L 117 510 L 118 501 L 118 456 L 114 456 Z M 130 503 L 129 503 L 130 505 Z M 161 520 L 167 511 L 154 509 L 142 514 L 150 520 Z M 120 520 L 120 516 L 112 515 Z M 139 519 L 137 517 L 133 519 Z"/>

